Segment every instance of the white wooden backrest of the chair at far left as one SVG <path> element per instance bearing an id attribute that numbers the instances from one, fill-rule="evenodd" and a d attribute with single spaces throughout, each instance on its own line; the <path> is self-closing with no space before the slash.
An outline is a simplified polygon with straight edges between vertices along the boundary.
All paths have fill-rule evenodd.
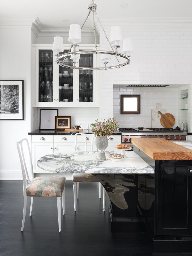
<path id="1" fill-rule="evenodd" d="M 29 174 L 28 174 L 25 155 L 24 155 L 24 152 L 23 152 L 23 142 L 24 141 L 26 141 L 26 143 L 27 143 L 27 151 L 28 151 L 27 153 L 28 153 L 28 156 L 29 156 L 29 162 L 30 162 L 29 165 L 30 165 L 30 169 L 31 169 L 32 179 L 34 178 L 34 173 L 33 173 L 33 164 L 32 164 L 31 152 L 30 152 L 28 140 L 27 139 L 20 140 L 20 141 L 17 142 L 17 149 L 18 149 L 20 164 L 21 164 L 21 172 L 22 172 L 22 178 L 23 178 L 23 189 L 26 190 L 26 187 L 27 187 L 27 184 L 28 184 L 27 180 L 28 180 L 28 182 L 30 182 L 30 178 L 29 178 Z"/>

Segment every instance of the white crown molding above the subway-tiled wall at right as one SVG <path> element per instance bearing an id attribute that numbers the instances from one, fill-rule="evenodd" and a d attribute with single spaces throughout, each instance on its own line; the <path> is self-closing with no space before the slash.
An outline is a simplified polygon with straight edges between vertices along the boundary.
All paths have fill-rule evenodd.
<path id="1" fill-rule="evenodd" d="M 100 17 L 104 26 L 122 27 L 186 27 L 192 28 L 192 17 Z M 98 23 L 98 21 L 97 21 Z"/>

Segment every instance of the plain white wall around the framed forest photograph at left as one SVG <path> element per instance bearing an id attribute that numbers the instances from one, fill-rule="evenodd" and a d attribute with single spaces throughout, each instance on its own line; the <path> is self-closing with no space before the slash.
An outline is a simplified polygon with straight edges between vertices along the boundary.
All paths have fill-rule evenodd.
<path id="1" fill-rule="evenodd" d="M 24 120 L 0 120 L 0 179 L 21 178 L 16 142 L 30 130 L 31 26 L 1 26 L 0 79 L 24 80 Z"/>

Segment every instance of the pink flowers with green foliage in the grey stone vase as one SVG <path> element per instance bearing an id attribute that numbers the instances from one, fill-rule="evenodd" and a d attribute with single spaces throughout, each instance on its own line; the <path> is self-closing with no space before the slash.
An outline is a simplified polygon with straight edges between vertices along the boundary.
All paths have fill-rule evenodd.
<path id="1" fill-rule="evenodd" d="M 96 119 L 91 128 L 95 136 L 111 136 L 118 129 L 118 121 L 111 117 L 103 122 Z"/>

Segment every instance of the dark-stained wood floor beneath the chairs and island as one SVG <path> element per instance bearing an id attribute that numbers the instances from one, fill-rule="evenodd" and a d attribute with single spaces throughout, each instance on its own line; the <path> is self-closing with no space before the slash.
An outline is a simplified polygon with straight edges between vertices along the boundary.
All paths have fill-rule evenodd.
<path id="1" fill-rule="evenodd" d="M 148 233 L 111 233 L 108 210 L 103 212 L 98 184 L 79 186 L 77 211 L 73 208 L 72 181 L 66 182 L 65 216 L 58 230 L 56 198 L 34 198 L 29 217 L 28 198 L 21 232 L 22 181 L 0 181 L 0 256 L 180 256 L 191 253 L 152 253 Z M 106 209 L 109 200 L 107 198 Z"/>

